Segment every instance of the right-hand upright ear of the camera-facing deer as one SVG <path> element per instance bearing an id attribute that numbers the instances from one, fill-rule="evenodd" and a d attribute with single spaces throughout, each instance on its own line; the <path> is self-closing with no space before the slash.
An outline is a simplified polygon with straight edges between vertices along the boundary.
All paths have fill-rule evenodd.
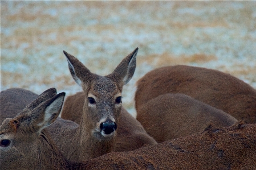
<path id="1" fill-rule="evenodd" d="M 108 77 L 117 79 L 117 81 L 121 82 L 123 85 L 127 84 L 135 72 L 138 50 L 139 48 L 136 48 L 132 53 L 125 57 Z"/>

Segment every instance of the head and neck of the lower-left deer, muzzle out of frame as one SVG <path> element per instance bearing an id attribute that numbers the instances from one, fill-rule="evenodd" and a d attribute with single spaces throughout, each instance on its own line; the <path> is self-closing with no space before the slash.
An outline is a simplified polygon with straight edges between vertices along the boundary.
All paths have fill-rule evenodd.
<path id="1" fill-rule="evenodd" d="M 67 166 L 44 130 L 55 121 L 62 108 L 65 93 L 56 95 L 55 92 L 46 90 L 16 117 L 3 121 L 0 169 L 62 169 Z"/>

